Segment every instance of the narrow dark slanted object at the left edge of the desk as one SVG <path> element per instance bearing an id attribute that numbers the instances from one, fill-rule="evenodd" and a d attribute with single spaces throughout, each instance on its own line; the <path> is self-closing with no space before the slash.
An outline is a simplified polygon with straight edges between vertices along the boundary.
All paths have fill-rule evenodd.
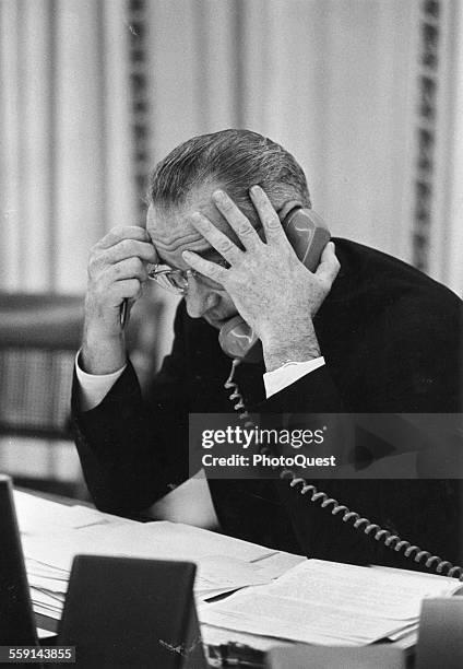
<path id="1" fill-rule="evenodd" d="M 0 645 L 37 646 L 12 490 L 0 474 Z"/>

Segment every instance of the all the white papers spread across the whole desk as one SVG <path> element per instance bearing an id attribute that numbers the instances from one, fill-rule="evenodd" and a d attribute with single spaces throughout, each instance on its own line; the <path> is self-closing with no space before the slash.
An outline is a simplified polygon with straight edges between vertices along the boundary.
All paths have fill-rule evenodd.
<path id="1" fill-rule="evenodd" d="M 14 501 L 34 610 L 55 619 L 76 554 L 195 562 L 199 615 L 210 633 L 327 645 L 401 643 L 416 633 L 425 597 L 461 589 L 443 576 L 306 560 L 179 523 L 140 524 L 19 492 Z"/>

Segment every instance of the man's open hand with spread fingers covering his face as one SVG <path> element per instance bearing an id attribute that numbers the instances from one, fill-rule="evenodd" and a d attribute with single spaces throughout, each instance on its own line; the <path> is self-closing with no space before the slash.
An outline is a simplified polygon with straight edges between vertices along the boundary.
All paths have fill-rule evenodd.
<path id="1" fill-rule="evenodd" d="M 207 216 L 195 212 L 190 218 L 192 225 L 225 258 L 229 268 L 190 250 L 183 251 L 182 258 L 194 270 L 224 286 L 242 318 L 262 340 L 268 368 L 284 357 L 317 357 L 320 350 L 312 318 L 340 269 L 334 245 L 328 244 L 319 267 L 310 272 L 297 258 L 262 188 L 253 186 L 250 198 L 262 224 L 264 240 L 232 198 L 216 190 L 212 200 L 237 235 L 242 250 Z"/>

